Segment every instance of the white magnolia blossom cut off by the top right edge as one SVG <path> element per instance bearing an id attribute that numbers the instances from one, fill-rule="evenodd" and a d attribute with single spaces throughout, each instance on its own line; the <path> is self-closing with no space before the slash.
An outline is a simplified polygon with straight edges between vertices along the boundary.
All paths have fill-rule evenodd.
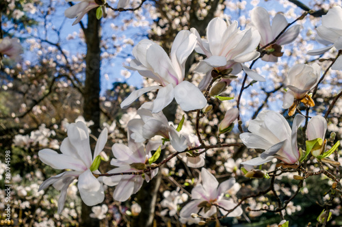
<path id="1" fill-rule="evenodd" d="M 335 6 L 321 17 L 321 26 L 317 27 L 317 42 L 329 45 L 321 49 L 308 51 L 308 55 L 321 55 L 332 49 L 342 50 L 342 8 Z M 342 70 L 342 57 L 337 58 L 331 66 L 333 70 Z"/>

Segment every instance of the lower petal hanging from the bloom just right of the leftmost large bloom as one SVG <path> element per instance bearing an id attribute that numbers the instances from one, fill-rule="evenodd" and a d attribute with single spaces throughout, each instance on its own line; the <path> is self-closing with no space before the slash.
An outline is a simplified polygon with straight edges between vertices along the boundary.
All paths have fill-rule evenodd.
<path id="1" fill-rule="evenodd" d="M 116 186 L 116 189 L 113 193 L 114 200 L 124 202 L 131 197 L 133 194 L 134 189 L 134 181 L 135 178 L 141 177 L 141 176 L 124 176 L 122 177 L 120 183 Z"/>

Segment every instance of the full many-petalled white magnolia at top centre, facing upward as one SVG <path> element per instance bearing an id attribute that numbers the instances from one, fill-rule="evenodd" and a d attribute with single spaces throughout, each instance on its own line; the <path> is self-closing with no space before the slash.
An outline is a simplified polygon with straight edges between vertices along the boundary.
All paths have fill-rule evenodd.
<path id="1" fill-rule="evenodd" d="M 240 31 L 237 21 L 226 23 L 221 18 L 213 18 L 207 27 L 207 40 L 202 40 L 196 29 L 192 28 L 191 31 L 197 37 L 196 51 L 207 55 L 196 69 L 207 74 L 198 85 L 201 90 L 205 90 L 210 83 L 213 68 L 219 72 L 231 68 L 233 75 L 244 69 L 252 79 L 265 81 L 265 78 L 244 65 L 244 62 L 257 59 L 260 55 L 256 51 L 260 35 L 255 29 Z"/>

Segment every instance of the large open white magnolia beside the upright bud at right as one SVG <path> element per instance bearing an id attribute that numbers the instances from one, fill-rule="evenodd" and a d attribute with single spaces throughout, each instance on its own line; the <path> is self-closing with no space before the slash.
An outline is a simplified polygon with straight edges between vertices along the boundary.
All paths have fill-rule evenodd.
<path id="1" fill-rule="evenodd" d="M 250 121 L 248 131 L 241 133 L 240 139 L 248 148 L 265 150 L 260 157 L 244 161 L 244 165 L 261 165 L 274 158 L 287 164 L 293 164 L 300 158 L 297 148 L 297 131 L 304 121 L 304 116 L 297 114 L 292 123 L 292 131 L 285 118 L 271 110 L 264 110 L 257 118 Z"/>

